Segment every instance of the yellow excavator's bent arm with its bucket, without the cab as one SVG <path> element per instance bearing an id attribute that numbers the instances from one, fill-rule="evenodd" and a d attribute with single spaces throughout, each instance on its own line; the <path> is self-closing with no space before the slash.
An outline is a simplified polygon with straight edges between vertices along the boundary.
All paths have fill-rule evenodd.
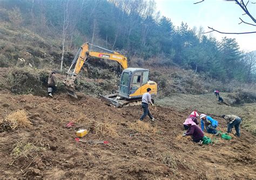
<path id="1" fill-rule="evenodd" d="M 104 52 L 97 52 L 97 51 L 90 51 L 89 50 L 89 45 L 98 47 L 99 49 L 103 50 Z M 68 90 L 68 93 L 77 98 L 75 94 L 75 79 L 80 72 L 81 68 L 84 65 L 84 62 L 87 61 L 89 57 L 95 57 L 99 59 L 109 59 L 109 60 L 114 60 L 117 61 L 117 63 L 122 66 L 123 70 L 128 67 L 127 65 L 127 58 L 124 57 L 122 54 L 107 50 L 103 47 L 96 46 L 90 43 L 84 43 L 78 50 L 75 58 L 72 61 L 72 64 L 69 68 L 69 71 L 66 73 L 67 77 L 64 80 L 64 85 L 66 86 L 66 89 Z M 75 65 L 76 64 L 76 65 Z M 75 68 L 73 69 L 73 72 L 71 72 L 71 69 L 75 65 Z"/>

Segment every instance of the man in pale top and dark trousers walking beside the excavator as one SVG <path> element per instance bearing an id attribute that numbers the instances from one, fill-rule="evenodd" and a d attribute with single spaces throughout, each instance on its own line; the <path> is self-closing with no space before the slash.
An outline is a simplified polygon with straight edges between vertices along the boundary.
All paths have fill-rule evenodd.
<path id="1" fill-rule="evenodd" d="M 143 115 L 140 117 L 140 121 L 143 121 L 143 119 L 149 115 L 151 121 L 154 121 L 154 117 L 152 116 L 152 114 L 150 113 L 149 110 L 149 103 L 153 105 L 153 102 L 151 101 L 151 88 L 147 88 L 147 92 L 143 94 L 142 96 L 142 108 L 143 108 Z"/>

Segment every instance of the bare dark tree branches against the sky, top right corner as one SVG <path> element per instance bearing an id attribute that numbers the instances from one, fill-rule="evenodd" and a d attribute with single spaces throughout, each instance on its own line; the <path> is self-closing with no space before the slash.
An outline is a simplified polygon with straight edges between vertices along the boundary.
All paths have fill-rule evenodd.
<path id="1" fill-rule="evenodd" d="M 246 3 L 244 2 L 244 0 L 239 0 L 239 1 L 238 0 L 226 0 L 226 1 L 233 1 L 233 2 L 235 2 L 235 4 L 239 5 L 240 8 L 245 12 L 242 15 L 247 15 L 252 20 L 252 23 L 248 23 L 248 22 L 245 22 L 244 20 L 242 20 L 242 18 L 239 18 L 241 20 L 241 22 L 238 23 L 238 24 L 244 23 L 244 24 L 247 24 L 247 25 L 256 26 L 256 19 L 251 14 L 250 10 L 248 10 L 248 8 L 247 8 L 247 5 L 250 3 L 250 0 L 248 0 Z M 198 4 L 198 3 L 201 3 L 201 2 L 204 2 L 204 0 L 196 2 L 194 4 Z M 251 4 L 256 4 L 256 3 L 255 2 L 251 2 Z M 210 29 L 210 31 L 204 32 L 204 33 L 209 33 L 209 32 L 213 32 L 213 31 L 219 32 L 219 33 L 223 33 L 223 34 L 249 34 L 249 33 L 256 33 L 256 31 L 250 31 L 250 32 L 222 32 L 222 31 L 216 30 L 213 27 L 209 27 L 209 26 L 208 26 L 208 29 Z"/>

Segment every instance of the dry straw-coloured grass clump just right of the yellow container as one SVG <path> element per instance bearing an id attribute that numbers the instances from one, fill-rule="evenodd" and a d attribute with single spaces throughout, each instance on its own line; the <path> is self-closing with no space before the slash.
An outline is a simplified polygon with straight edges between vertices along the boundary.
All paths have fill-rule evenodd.
<path id="1" fill-rule="evenodd" d="M 117 125 L 112 122 L 102 123 L 94 121 L 91 128 L 98 136 L 119 137 L 117 133 Z"/>

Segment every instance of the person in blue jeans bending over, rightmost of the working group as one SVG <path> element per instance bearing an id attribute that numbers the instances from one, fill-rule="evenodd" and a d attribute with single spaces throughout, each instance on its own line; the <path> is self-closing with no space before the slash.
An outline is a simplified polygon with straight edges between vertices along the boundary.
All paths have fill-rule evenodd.
<path id="1" fill-rule="evenodd" d="M 223 117 L 227 121 L 227 133 L 231 133 L 232 128 L 235 127 L 236 133 L 234 135 L 240 137 L 239 126 L 242 121 L 241 118 L 236 115 L 225 115 L 225 114 L 222 115 L 221 117 Z"/>

